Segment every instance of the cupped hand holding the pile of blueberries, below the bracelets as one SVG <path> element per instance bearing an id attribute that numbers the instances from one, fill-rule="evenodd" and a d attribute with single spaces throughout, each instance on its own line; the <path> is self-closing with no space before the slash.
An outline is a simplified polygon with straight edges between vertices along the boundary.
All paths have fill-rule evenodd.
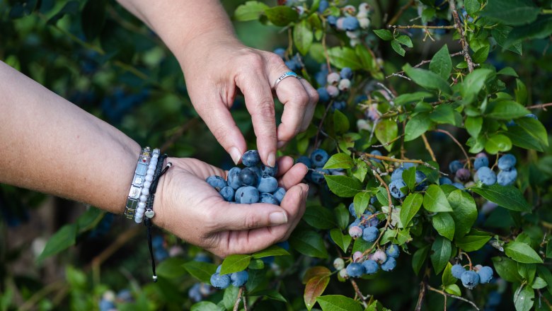
<path id="1" fill-rule="evenodd" d="M 280 206 L 231 204 L 205 179 L 226 172 L 192 158 L 168 158 L 173 163 L 159 182 L 154 201 L 159 227 L 220 257 L 263 250 L 286 240 L 305 210 L 309 187 L 301 184 L 306 167 L 292 158 L 278 160 L 278 181 L 287 193 Z"/>

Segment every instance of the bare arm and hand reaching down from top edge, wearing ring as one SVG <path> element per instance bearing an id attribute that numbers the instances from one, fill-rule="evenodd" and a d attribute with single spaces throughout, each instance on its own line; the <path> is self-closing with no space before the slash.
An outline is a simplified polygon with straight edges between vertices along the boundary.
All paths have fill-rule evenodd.
<path id="1" fill-rule="evenodd" d="M 175 54 L 197 113 L 238 163 L 246 141 L 229 109 L 238 90 L 246 100 L 260 158 L 274 166 L 277 148 L 309 127 L 318 93 L 305 80 L 285 78 L 275 95 L 284 104 L 276 127 L 272 86 L 287 66 L 276 54 L 244 46 L 217 0 L 118 0 L 149 25 Z"/>

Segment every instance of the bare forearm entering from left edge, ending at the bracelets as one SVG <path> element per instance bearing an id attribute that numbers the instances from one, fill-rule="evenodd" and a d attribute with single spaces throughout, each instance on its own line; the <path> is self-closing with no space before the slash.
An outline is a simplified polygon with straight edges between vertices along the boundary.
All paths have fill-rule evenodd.
<path id="1" fill-rule="evenodd" d="M 122 213 L 140 151 L 0 61 L 0 182 Z"/>

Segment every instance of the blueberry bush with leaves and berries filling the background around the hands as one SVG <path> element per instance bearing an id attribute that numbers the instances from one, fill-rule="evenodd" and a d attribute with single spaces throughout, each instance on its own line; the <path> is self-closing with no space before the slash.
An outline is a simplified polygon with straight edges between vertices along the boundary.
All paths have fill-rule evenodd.
<path id="1" fill-rule="evenodd" d="M 218 259 L 158 231 L 152 283 L 142 228 L 90 207 L 38 247 L 34 276 L 9 270 L 22 250 L 0 253 L 1 310 L 552 309 L 552 1 L 224 5 L 320 96 L 280 151 L 309 167 L 292 236 Z M 176 59 L 120 6 L 11 0 L 0 14 L 0 59 L 143 145 L 231 169 L 207 179 L 227 201 L 279 204 L 277 168 L 255 151 L 231 168 Z M 232 114 L 254 141 L 243 99 Z M 44 200 L 0 191 L 8 233 Z M 38 277 L 48 262 L 61 278 Z"/>

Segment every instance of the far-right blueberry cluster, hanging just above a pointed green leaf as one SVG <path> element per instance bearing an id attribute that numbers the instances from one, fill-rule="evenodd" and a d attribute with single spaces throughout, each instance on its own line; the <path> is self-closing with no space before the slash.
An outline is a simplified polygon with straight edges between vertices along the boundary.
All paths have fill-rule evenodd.
<path id="1" fill-rule="evenodd" d="M 514 155 L 508 153 L 502 155 L 498 159 L 498 168 L 500 171 L 498 175 L 490 168 L 489 158 L 485 153 L 478 153 L 476 159 L 473 160 L 473 181 L 485 185 L 500 184 L 501 186 L 508 186 L 513 184 L 517 179 L 517 170 L 515 168 L 516 158 Z M 447 177 L 441 177 L 439 179 L 440 184 L 452 184 L 454 187 L 464 189 L 470 186 L 473 182 L 470 182 L 471 172 L 459 160 L 454 160 L 449 164 L 449 170 L 454 174 L 454 182 Z"/>

